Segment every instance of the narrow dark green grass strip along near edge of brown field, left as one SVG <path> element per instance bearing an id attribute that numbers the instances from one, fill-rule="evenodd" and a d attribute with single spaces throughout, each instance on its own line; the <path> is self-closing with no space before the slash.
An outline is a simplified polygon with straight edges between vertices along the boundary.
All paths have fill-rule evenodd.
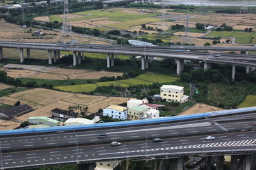
<path id="1" fill-rule="evenodd" d="M 35 78 L 20 78 L 23 84 L 28 83 L 28 81 L 36 81 L 36 84 L 41 86 L 44 83 L 52 84 L 53 86 L 63 86 L 63 85 L 82 85 L 87 83 L 88 79 L 72 79 L 72 80 L 45 80 L 45 79 L 35 79 Z M 92 81 L 97 81 L 93 79 Z"/>

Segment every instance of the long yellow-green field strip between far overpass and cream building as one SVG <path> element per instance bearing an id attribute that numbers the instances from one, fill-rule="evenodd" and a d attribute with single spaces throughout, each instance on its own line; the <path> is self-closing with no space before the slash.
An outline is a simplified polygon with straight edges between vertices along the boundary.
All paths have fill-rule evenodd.
<path id="1" fill-rule="evenodd" d="M 155 73 L 144 73 L 136 78 L 131 78 L 128 80 L 116 80 L 116 81 L 106 81 L 93 84 L 84 84 L 84 85 L 70 85 L 70 86 L 59 86 L 54 87 L 54 89 L 70 91 L 70 92 L 92 92 L 97 86 L 121 86 L 129 87 L 130 85 L 140 85 L 140 84 L 152 84 L 154 82 L 172 82 L 179 80 L 179 78 L 173 76 L 167 76 L 164 74 L 155 74 Z"/>

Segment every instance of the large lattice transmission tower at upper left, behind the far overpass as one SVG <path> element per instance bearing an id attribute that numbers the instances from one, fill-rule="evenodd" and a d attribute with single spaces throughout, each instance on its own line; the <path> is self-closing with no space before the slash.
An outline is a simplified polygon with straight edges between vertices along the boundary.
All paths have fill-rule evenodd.
<path id="1" fill-rule="evenodd" d="M 72 42 L 72 26 L 70 25 L 70 18 L 68 12 L 68 0 L 64 0 L 64 13 L 61 30 L 61 43 Z"/>

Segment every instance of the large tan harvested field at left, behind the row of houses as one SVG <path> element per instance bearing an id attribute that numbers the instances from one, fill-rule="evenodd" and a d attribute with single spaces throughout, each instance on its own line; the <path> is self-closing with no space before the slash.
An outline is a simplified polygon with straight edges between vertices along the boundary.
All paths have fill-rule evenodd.
<path id="1" fill-rule="evenodd" d="M 16 121 L 23 122 L 28 117 L 51 117 L 51 110 L 60 108 L 67 110 L 68 106 L 80 105 L 88 106 L 88 114 L 95 113 L 100 108 L 105 108 L 110 104 L 125 103 L 130 98 L 125 97 L 106 97 L 90 96 L 84 94 L 70 94 L 67 92 L 58 92 L 49 89 L 31 89 L 23 92 L 17 92 L 9 96 L 0 97 L 0 104 L 13 105 L 18 100 L 21 104 L 29 104 L 34 111 L 15 118 Z M 20 125 L 20 122 L 11 120 L 0 120 L 0 129 L 13 129 Z"/>

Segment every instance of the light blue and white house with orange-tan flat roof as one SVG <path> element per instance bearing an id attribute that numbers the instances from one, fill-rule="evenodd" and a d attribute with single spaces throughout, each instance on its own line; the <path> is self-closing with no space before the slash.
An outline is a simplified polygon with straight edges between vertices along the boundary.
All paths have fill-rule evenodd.
<path id="1" fill-rule="evenodd" d="M 127 108 L 118 105 L 110 105 L 103 109 L 103 116 L 126 120 Z"/>

